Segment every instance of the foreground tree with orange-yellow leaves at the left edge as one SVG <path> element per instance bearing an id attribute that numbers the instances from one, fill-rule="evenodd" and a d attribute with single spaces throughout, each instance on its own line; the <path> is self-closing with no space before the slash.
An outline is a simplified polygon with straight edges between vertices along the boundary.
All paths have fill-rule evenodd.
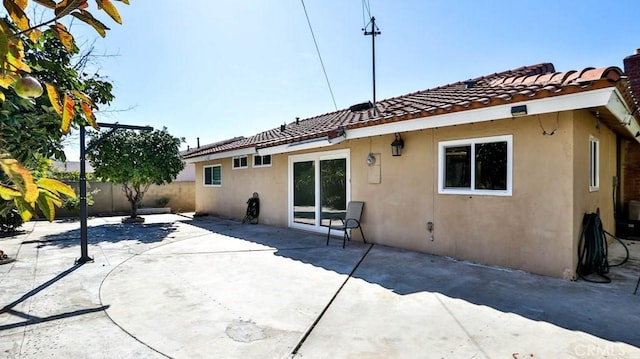
<path id="1" fill-rule="evenodd" d="M 118 0 L 128 4 L 128 0 Z M 61 153 L 56 147 L 56 134 L 61 131 L 67 134 L 72 124 L 84 126 L 89 124 L 98 129 L 95 115 L 93 113 L 98 107 L 96 100 L 100 100 L 97 94 L 104 93 L 107 89 L 110 95 L 110 85 L 104 83 L 94 83 L 89 88 L 74 86 L 73 83 L 65 82 L 66 79 L 73 79 L 73 73 L 66 73 L 66 76 L 55 74 L 48 79 L 44 79 L 48 104 L 46 99 L 37 100 L 43 92 L 40 81 L 29 76 L 34 70 L 41 70 L 40 74 L 51 74 L 45 65 L 46 61 L 39 61 L 34 58 L 30 50 L 38 49 L 38 46 L 51 47 L 49 53 L 58 51 L 58 55 L 73 53 L 77 51 L 77 46 L 72 34 L 67 30 L 60 20 L 66 16 L 72 16 L 93 27 L 101 36 L 106 35 L 107 26 L 96 19 L 87 9 L 87 0 L 34 0 L 35 6 L 41 9 L 49 9 L 53 12 L 50 20 L 40 24 L 32 25 L 30 18 L 25 11 L 29 4 L 28 0 L 4 0 L 3 6 L 7 12 L 6 18 L 0 19 L 0 101 L 2 101 L 1 113 L 5 115 L 4 122 L 7 126 L 2 128 L 3 138 L 8 135 L 17 138 L 28 139 L 29 137 L 45 138 L 47 141 L 39 142 L 36 151 L 21 151 L 20 148 L 11 148 L 11 143 L 0 141 L 0 216 L 2 212 L 8 213 L 12 208 L 17 208 L 24 220 L 28 220 L 35 214 L 36 204 L 43 211 L 47 219 L 52 220 L 56 206 L 62 203 L 61 195 L 74 197 L 71 188 L 59 181 L 49 178 L 34 178 L 31 172 L 14 155 L 22 157 L 28 162 L 38 156 L 48 156 L 51 153 Z M 122 23 L 117 8 L 110 0 L 96 0 L 96 6 L 104 11 L 117 23 Z M 48 26 L 44 31 L 41 30 Z M 55 38 L 57 42 L 52 39 Z M 47 42 L 47 40 L 50 40 Z M 47 53 L 43 51 L 41 53 Z M 53 57 L 57 60 L 57 57 Z M 45 59 L 46 60 L 46 59 Z M 55 66 L 56 61 L 49 61 Z M 33 67 L 33 69 L 32 69 Z M 64 66 L 63 66 L 64 67 Z M 28 80 L 28 81 L 27 81 Z M 95 80 L 95 79 L 93 79 Z M 86 79 L 85 83 L 91 83 L 92 79 Z M 105 87 L 106 86 L 106 87 Z M 84 92 L 83 92 L 84 91 Z M 94 99 L 92 99 L 94 97 Z M 11 111 L 15 116 L 10 116 Z M 26 114 L 31 111 L 36 113 Z M 19 118 L 18 114 L 22 114 Z M 49 126 L 54 115 L 59 116 L 59 126 Z M 81 114 L 77 116 L 77 114 Z M 4 121 L 6 120 L 6 121 Z M 41 127 L 25 126 L 27 122 L 42 120 Z M 44 126 L 43 126 L 44 125 Z M 10 130 L 22 128 L 21 130 L 9 133 Z M 38 132 L 39 131 L 39 132 Z M 5 136 L 7 135 L 7 136 Z M 22 137 L 21 137 L 22 136 Z M 50 136 L 50 137 L 49 137 Z M 59 139 L 59 137 L 58 137 Z M 37 141 L 36 141 L 37 142 Z M 15 143 L 15 142 L 14 142 Z M 57 142 L 59 144 L 59 142 Z M 53 146 L 51 146 L 53 144 Z M 28 145 L 27 145 L 28 146 Z M 49 147 L 47 147 L 49 146 Z M 22 149 L 29 148 L 23 146 Z M 40 153 L 42 152 L 42 153 Z M 32 156 L 36 155 L 36 156 Z"/>

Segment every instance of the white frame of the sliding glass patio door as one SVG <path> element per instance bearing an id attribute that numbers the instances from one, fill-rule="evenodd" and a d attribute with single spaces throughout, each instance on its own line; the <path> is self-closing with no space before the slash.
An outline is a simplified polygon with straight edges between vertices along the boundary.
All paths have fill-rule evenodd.
<path id="1" fill-rule="evenodd" d="M 291 228 L 301 229 L 305 231 L 318 232 L 318 233 L 327 233 L 327 227 L 322 226 L 322 204 L 321 196 L 320 196 L 320 161 L 323 160 L 333 160 L 333 159 L 345 159 L 346 161 L 346 178 L 345 178 L 345 191 L 346 191 L 346 202 L 349 203 L 351 200 L 351 151 L 347 149 L 343 150 L 333 150 L 333 151 L 325 151 L 325 152 L 314 152 L 314 153 L 305 153 L 302 155 L 290 155 L 289 156 L 289 165 L 288 165 L 288 186 L 289 186 L 289 199 L 287 203 L 287 216 L 288 216 L 288 225 Z M 315 224 L 304 224 L 297 223 L 294 221 L 294 203 L 293 203 L 293 164 L 296 162 L 309 162 L 313 161 L 314 163 L 314 175 L 315 175 Z M 333 234 L 333 231 L 332 231 Z M 342 235 L 339 231 L 336 231 L 336 235 Z"/>

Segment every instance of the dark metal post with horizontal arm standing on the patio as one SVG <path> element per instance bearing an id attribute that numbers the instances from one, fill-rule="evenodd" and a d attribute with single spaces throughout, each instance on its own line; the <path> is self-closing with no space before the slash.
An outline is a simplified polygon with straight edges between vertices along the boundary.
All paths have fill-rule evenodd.
<path id="1" fill-rule="evenodd" d="M 153 127 L 149 126 L 131 126 L 120 125 L 117 123 L 98 123 L 100 127 L 110 128 L 111 131 L 102 137 L 104 141 L 108 136 L 113 134 L 117 129 L 123 128 L 127 130 L 153 131 Z M 80 125 L 80 258 L 76 260 L 76 264 L 85 264 L 93 262 L 93 258 L 89 257 L 89 240 L 87 237 L 87 170 L 85 164 L 85 153 L 87 150 L 99 145 L 102 141 L 93 143 L 90 148 L 85 148 L 85 126 Z"/>

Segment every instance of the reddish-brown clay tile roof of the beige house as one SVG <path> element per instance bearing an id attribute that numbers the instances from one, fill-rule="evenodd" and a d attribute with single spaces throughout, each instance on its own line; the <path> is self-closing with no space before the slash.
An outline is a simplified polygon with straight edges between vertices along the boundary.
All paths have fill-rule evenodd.
<path id="1" fill-rule="evenodd" d="M 378 101 L 377 116 L 372 108 L 363 111 L 343 109 L 251 137 L 236 137 L 192 149 L 183 155 L 188 159 L 247 148 L 259 150 L 321 137 L 332 139 L 350 129 L 615 87 L 624 78 L 617 67 L 555 72 L 551 63 L 523 66 Z M 626 86 L 618 88 L 623 94 L 628 93 Z"/>

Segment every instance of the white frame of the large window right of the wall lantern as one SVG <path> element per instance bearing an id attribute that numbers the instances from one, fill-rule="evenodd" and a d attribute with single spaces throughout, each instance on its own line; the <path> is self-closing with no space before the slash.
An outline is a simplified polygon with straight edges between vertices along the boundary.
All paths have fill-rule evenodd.
<path id="1" fill-rule="evenodd" d="M 475 145 L 480 143 L 506 142 L 507 143 L 507 189 L 486 190 L 475 189 Z M 445 188 L 445 149 L 447 147 L 471 146 L 471 184 L 470 188 Z M 463 140 L 438 142 L 438 193 L 439 194 L 463 194 L 482 196 L 512 196 L 513 195 L 513 135 L 468 138 Z"/>

